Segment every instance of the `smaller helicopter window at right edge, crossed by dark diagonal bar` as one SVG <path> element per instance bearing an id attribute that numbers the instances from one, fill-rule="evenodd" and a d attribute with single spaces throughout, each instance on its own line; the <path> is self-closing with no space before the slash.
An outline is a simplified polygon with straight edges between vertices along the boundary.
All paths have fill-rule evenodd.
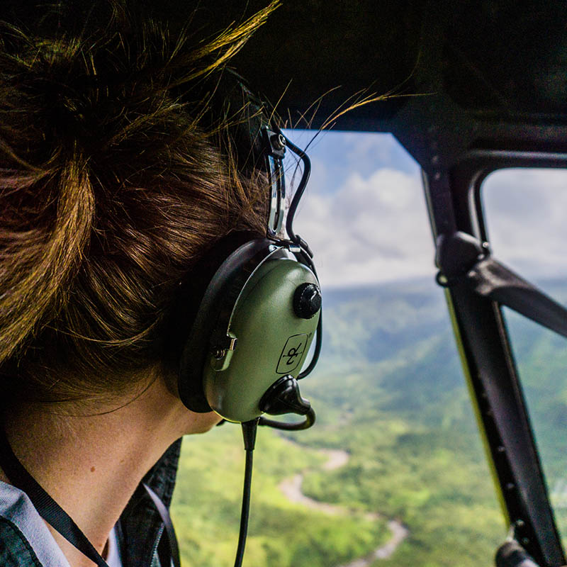
<path id="1" fill-rule="evenodd" d="M 482 186 L 500 262 L 567 305 L 567 170 L 500 169 Z M 567 542 L 567 349 L 563 337 L 503 308 L 556 523 Z"/>

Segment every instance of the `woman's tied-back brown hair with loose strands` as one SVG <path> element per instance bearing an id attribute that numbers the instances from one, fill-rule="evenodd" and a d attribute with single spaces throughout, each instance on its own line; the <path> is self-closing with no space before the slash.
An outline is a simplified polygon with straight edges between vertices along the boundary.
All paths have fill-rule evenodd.
<path id="1" fill-rule="evenodd" d="M 235 109 L 211 101 L 276 3 L 193 47 L 118 1 L 78 31 L 60 6 L 56 26 L 0 36 L 7 401 L 125 391 L 164 359 L 179 281 L 215 240 L 265 224 L 266 188 L 235 167 Z"/>

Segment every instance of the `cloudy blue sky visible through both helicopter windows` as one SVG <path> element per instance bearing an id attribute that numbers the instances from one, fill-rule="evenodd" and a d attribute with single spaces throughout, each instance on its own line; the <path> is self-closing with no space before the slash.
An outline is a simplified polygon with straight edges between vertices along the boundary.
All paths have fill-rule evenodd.
<path id="1" fill-rule="evenodd" d="M 433 278 L 434 245 L 420 168 L 391 134 L 287 130 L 308 146 L 310 183 L 295 230 L 315 252 L 323 288 Z M 293 164 L 288 165 L 288 179 Z M 567 276 L 567 172 L 508 169 L 483 188 L 500 261 L 537 283 Z"/>

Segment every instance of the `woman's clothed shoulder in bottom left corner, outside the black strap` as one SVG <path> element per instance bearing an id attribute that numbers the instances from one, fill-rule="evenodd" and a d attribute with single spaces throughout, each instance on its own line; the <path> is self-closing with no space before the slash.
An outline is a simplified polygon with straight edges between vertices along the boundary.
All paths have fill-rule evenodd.
<path id="1" fill-rule="evenodd" d="M 0 566 L 69 567 L 28 495 L 1 481 Z"/>

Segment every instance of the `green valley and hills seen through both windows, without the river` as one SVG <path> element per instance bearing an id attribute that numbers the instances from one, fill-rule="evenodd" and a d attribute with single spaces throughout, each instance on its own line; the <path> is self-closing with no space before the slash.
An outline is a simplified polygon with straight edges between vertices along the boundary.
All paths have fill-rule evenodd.
<path id="1" fill-rule="evenodd" d="M 547 472 L 562 479 L 567 380 L 554 369 L 567 354 L 561 339 L 516 323 L 530 407 L 547 416 L 537 424 Z M 493 564 L 505 526 L 439 289 L 417 282 L 327 293 L 325 351 L 302 393 L 316 427 L 289 434 L 295 442 L 259 432 L 245 565 L 346 565 L 388 541 L 386 519 L 410 535 L 373 566 Z M 344 449 L 349 459 L 327 471 L 318 449 Z M 173 507 L 185 567 L 232 565 L 243 468 L 237 427 L 185 439 Z M 305 495 L 344 514 L 288 501 L 279 483 L 298 473 Z"/>

